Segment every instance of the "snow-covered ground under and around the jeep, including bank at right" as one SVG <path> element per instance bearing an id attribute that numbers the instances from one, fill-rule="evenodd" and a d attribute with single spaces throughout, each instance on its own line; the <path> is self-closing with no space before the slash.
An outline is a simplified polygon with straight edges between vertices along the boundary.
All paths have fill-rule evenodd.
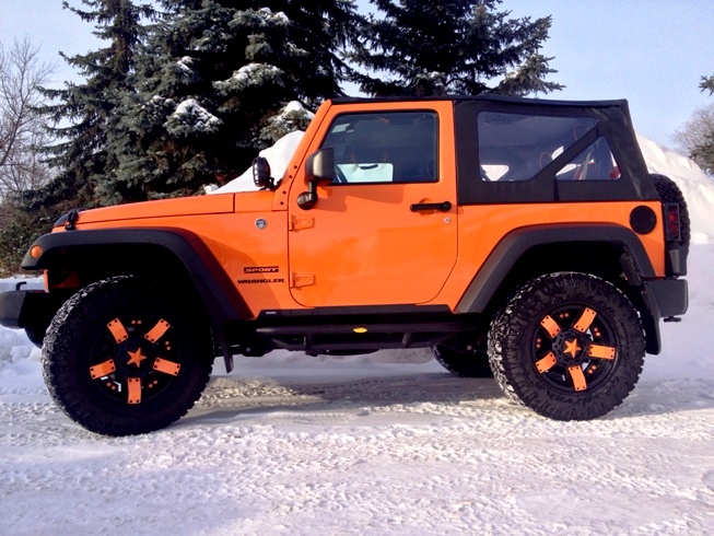
<path id="1" fill-rule="evenodd" d="M 641 144 L 689 199 L 691 304 L 607 417 L 540 418 L 428 351 L 274 352 L 216 361 L 186 418 L 109 439 L 0 328 L 0 534 L 714 534 L 714 182 Z"/>

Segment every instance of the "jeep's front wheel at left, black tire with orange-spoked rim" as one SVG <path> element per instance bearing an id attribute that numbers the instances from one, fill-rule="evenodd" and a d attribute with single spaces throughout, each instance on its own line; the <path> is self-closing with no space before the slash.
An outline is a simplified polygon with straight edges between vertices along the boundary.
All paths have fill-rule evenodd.
<path id="1" fill-rule="evenodd" d="M 186 302 L 134 277 L 79 291 L 45 337 L 51 397 L 71 419 L 105 435 L 147 433 L 179 419 L 213 364 L 209 324 Z"/>

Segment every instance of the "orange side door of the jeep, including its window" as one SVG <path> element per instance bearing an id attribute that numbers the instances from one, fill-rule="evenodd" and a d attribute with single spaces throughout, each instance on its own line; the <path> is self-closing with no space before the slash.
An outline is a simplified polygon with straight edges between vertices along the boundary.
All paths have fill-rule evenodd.
<path id="1" fill-rule="evenodd" d="M 421 304 L 457 256 L 452 103 L 336 106 L 309 152 L 331 148 L 335 179 L 303 210 L 290 191 L 291 292 L 304 306 Z M 347 108 L 347 109 L 346 109 Z"/>

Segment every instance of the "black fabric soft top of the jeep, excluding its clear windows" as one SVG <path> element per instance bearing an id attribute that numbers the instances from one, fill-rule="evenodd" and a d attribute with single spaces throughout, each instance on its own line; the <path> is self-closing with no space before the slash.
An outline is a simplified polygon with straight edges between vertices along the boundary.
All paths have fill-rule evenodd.
<path id="1" fill-rule="evenodd" d="M 458 201 L 471 203 L 655 200 L 657 191 L 649 180 L 646 163 L 640 151 L 628 101 L 555 101 L 525 98 L 483 93 L 476 96 L 443 95 L 429 97 L 338 97 L 339 104 L 452 102 L 457 138 Z M 527 182 L 484 182 L 480 176 L 477 121 L 482 112 L 530 116 L 589 117 L 597 123 L 586 137 L 572 145 L 570 156 L 563 154 Z M 546 136 L 547 132 L 543 132 Z M 619 180 L 563 182 L 555 179 L 558 166 L 574 156 L 598 137 L 605 137 L 616 158 Z M 565 162 L 566 163 L 566 162 Z"/>

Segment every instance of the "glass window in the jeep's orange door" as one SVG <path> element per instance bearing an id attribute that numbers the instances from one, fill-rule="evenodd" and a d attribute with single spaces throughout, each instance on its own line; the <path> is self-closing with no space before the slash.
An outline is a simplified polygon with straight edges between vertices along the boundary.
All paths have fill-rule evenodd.
<path id="1" fill-rule="evenodd" d="M 335 149 L 336 184 L 438 180 L 434 112 L 342 114 L 323 148 Z"/>

